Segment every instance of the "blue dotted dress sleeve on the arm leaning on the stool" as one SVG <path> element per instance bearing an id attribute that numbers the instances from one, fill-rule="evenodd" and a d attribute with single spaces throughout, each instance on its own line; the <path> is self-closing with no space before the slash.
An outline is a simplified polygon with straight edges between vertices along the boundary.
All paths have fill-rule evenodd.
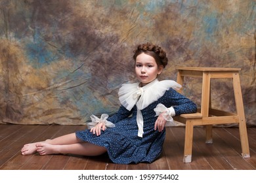
<path id="1" fill-rule="evenodd" d="M 171 106 L 175 110 L 175 116 L 185 113 L 195 113 L 197 111 L 196 104 L 184 95 L 181 95 L 181 93 L 172 88 L 168 92 L 168 101 L 170 101 Z"/>

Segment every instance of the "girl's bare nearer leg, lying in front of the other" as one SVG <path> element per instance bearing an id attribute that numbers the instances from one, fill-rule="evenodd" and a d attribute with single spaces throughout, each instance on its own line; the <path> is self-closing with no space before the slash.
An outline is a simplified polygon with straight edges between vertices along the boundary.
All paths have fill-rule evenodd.
<path id="1" fill-rule="evenodd" d="M 47 154 L 75 154 L 82 156 L 98 156 L 106 152 L 106 148 L 91 144 L 90 142 L 80 142 L 75 144 L 49 144 L 40 142 L 36 144 L 37 152 L 40 155 Z"/>

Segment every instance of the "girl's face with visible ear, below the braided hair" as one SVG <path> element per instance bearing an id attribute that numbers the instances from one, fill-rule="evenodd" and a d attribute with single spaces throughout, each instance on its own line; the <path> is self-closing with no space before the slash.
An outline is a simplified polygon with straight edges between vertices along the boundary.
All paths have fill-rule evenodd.
<path id="1" fill-rule="evenodd" d="M 163 71 L 163 66 L 158 67 L 156 60 L 147 54 L 139 54 L 136 58 L 135 72 L 142 86 L 152 82 Z"/>

